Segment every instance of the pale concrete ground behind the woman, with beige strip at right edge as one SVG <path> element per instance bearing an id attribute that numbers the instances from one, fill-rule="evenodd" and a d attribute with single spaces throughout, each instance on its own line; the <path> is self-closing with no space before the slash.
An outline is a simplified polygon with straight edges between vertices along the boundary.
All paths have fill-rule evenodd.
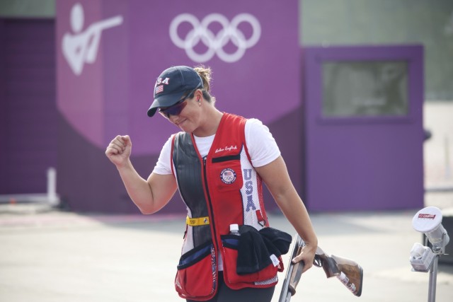
<path id="1" fill-rule="evenodd" d="M 453 209 L 453 103 L 425 106 L 425 206 Z M 429 273 L 411 272 L 411 221 L 418 209 L 312 214 L 319 245 L 364 269 L 362 296 L 314 267 L 292 301 L 427 301 Z M 185 216 L 84 215 L 39 204 L 0 206 L 0 301 L 183 301 L 173 288 Z M 288 233 L 278 213 L 270 223 Z M 450 232 L 453 240 L 453 231 Z M 450 245 L 453 243 L 450 243 Z M 289 260 L 284 257 L 285 263 Z M 284 274 L 280 274 L 284 279 Z M 278 301 L 281 283 L 273 301 Z M 440 263 L 437 301 L 452 301 L 453 264 Z M 359 300 L 357 300 L 359 299 Z"/>

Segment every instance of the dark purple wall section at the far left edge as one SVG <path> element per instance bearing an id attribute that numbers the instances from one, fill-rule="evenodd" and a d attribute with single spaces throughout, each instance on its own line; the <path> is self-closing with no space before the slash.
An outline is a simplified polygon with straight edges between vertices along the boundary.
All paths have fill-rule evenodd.
<path id="1" fill-rule="evenodd" d="M 0 19 L 0 194 L 47 190 L 57 165 L 55 22 Z"/>

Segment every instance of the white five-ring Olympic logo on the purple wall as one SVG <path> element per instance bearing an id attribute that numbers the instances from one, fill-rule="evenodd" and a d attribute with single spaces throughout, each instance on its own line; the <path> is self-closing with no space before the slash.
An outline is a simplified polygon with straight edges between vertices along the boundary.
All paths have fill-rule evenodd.
<path id="1" fill-rule="evenodd" d="M 248 39 L 238 28 L 239 24 L 244 22 L 250 24 L 252 28 L 252 35 Z M 185 37 L 181 38 L 178 35 L 178 28 L 183 23 L 190 23 L 192 29 Z M 209 29 L 211 23 L 219 23 L 222 25 L 222 29 L 217 34 L 212 33 L 212 30 Z M 176 16 L 170 24 L 171 41 L 177 47 L 185 50 L 190 59 L 199 63 L 209 61 L 214 57 L 214 54 L 217 54 L 217 57 L 224 62 L 236 62 L 243 57 L 248 48 L 256 45 L 260 40 L 260 35 L 260 23 L 250 13 L 240 13 L 231 20 L 231 23 L 220 13 L 211 13 L 201 22 L 190 13 L 182 13 Z M 236 51 L 233 53 L 224 51 L 224 46 L 229 41 L 236 46 Z M 194 50 L 195 45 L 200 42 L 207 47 L 207 50 L 203 53 Z"/>

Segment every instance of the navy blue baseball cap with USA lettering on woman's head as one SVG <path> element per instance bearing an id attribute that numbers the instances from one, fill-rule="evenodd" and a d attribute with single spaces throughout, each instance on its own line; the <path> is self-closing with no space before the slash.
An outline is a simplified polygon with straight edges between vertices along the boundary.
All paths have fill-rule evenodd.
<path id="1" fill-rule="evenodd" d="M 203 81 L 192 67 L 171 66 L 165 69 L 154 86 L 154 102 L 148 109 L 148 116 L 152 117 L 161 107 L 175 105 L 184 93 L 196 88 L 203 88 Z"/>

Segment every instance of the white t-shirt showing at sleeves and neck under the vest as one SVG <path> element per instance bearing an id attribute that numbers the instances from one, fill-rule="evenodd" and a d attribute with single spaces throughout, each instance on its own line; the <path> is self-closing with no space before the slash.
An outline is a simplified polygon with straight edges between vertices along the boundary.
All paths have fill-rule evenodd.
<path id="1" fill-rule="evenodd" d="M 267 165 L 280 156 L 280 149 L 278 149 L 274 137 L 269 132 L 269 128 L 260 120 L 247 120 L 245 132 L 248 154 L 251 157 L 253 167 Z M 173 135 L 164 144 L 153 173 L 160 175 L 171 174 L 170 157 Z M 197 149 L 202 157 L 207 156 L 207 153 L 209 153 L 214 137 L 215 134 L 210 137 L 195 137 L 195 144 L 197 144 Z"/>

